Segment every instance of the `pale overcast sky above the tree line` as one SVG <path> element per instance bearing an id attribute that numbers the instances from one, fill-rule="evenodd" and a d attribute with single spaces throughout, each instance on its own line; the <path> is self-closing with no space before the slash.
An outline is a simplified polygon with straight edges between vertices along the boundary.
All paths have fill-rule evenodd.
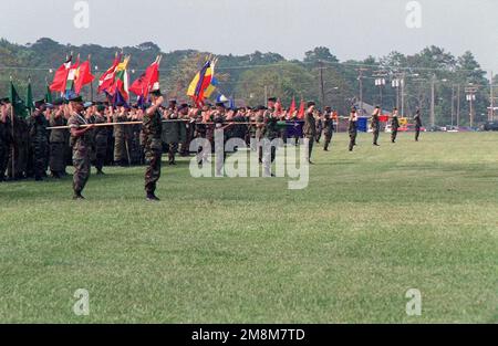
<path id="1" fill-rule="evenodd" d="M 405 21 L 408 0 L 87 0 L 90 27 L 76 29 L 73 0 L 2 1 L 0 36 L 61 43 L 135 45 L 218 54 L 256 50 L 302 59 L 325 45 L 341 60 L 413 54 L 435 44 L 470 50 L 498 74 L 498 0 L 419 0 L 422 28 Z"/>

